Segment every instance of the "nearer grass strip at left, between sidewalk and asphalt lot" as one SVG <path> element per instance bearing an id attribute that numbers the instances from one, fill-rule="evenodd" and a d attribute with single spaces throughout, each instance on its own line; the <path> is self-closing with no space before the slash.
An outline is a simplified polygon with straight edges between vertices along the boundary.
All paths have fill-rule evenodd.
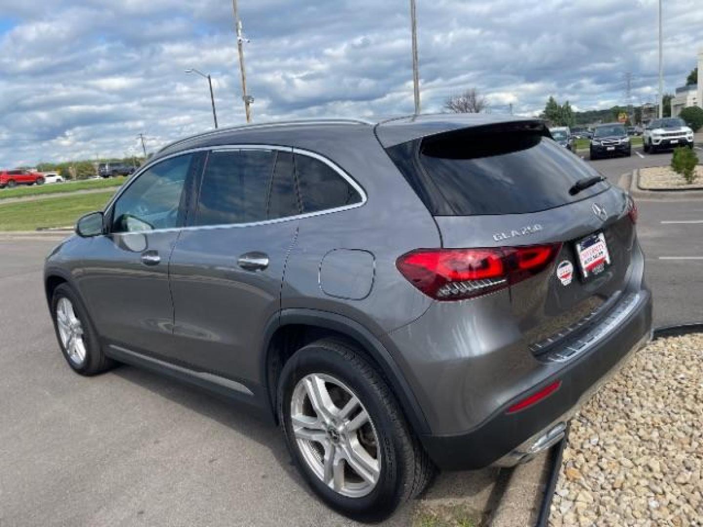
<path id="1" fill-rule="evenodd" d="M 94 194 L 61 196 L 51 200 L 0 204 L 0 230 L 73 226 L 86 212 L 103 209 L 112 194 L 111 190 L 106 190 Z"/>

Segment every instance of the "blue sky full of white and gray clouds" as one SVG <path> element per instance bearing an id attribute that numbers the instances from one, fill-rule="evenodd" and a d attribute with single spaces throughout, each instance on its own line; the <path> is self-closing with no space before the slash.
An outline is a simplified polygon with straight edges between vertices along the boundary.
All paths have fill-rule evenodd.
<path id="1" fill-rule="evenodd" d="M 664 0 L 665 86 L 703 48 L 701 0 Z M 239 0 L 254 121 L 413 110 L 408 0 Z M 653 101 L 657 0 L 418 0 L 423 111 Z M 141 150 L 244 122 L 228 0 L 0 0 L 0 165 Z"/>

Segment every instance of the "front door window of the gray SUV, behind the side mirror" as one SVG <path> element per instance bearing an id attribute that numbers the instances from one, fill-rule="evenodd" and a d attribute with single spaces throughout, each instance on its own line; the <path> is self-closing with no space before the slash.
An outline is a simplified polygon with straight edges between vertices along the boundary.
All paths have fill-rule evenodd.
<path id="1" fill-rule="evenodd" d="M 144 171 L 115 202 L 112 232 L 129 233 L 179 226 L 181 196 L 193 155 L 162 161 Z"/>

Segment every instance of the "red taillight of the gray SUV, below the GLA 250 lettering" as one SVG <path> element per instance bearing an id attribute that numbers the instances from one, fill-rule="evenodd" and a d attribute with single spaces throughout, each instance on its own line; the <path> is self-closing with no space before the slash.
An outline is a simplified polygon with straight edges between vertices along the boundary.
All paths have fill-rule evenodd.
<path id="1" fill-rule="evenodd" d="M 411 284 L 437 300 L 461 300 L 504 289 L 543 271 L 561 244 L 486 249 L 417 249 L 396 267 Z"/>

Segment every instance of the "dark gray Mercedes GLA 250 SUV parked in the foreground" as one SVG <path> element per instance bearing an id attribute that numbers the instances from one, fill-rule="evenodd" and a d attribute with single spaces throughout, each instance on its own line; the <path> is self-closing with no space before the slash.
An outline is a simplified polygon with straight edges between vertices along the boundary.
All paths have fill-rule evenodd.
<path id="1" fill-rule="evenodd" d="M 260 124 L 161 150 L 51 252 L 68 364 L 260 410 L 311 488 L 379 520 L 511 465 L 650 338 L 636 207 L 542 122 Z"/>

